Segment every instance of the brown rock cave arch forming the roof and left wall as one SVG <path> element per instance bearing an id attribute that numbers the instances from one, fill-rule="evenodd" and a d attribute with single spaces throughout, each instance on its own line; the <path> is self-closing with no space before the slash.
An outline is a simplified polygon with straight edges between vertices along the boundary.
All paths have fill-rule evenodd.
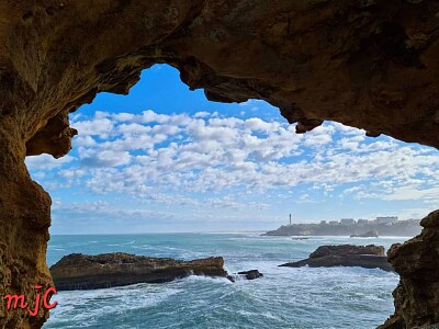
<path id="1" fill-rule="evenodd" d="M 0 2 L 0 293 L 35 294 L 49 196 L 26 155 L 58 158 L 68 113 L 127 93 L 167 63 L 210 100 L 262 99 L 304 133 L 325 120 L 439 147 L 436 0 L 15 0 Z M 7 328 L 47 314 L 4 311 Z"/>

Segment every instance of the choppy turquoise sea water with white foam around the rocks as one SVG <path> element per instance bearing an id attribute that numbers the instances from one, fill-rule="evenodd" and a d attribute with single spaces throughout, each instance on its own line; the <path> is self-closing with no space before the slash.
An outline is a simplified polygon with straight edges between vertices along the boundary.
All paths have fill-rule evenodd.
<path id="1" fill-rule="evenodd" d="M 53 236 L 49 265 L 71 252 L 130 252 L 192 260 L 222 256 L 230 273 L 258 269 L 262 279 L 230 283 L 191 276 L 166 284 L 136 284 L 60 292 L 44 328 L 375 328 L 393 313 L 398 276 L 361 268 L 292 269 L 322 245 L 382 245 L 406 238 L 260 237 L 252 234 Z"/>

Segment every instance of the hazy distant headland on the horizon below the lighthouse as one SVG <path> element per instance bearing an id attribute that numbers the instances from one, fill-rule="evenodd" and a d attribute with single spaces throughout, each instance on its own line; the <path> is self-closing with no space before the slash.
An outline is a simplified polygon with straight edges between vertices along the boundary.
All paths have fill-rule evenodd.
<path id="1" fill-rule="evenodd" d="M 420 232 L 420 220 L 401 220 L 392 225 L 385 224 L 293 224 L 269 230 L 263 236 L 362 236 L 367 231 L 375 231 L 380 236 L 414 237 Z"/>

